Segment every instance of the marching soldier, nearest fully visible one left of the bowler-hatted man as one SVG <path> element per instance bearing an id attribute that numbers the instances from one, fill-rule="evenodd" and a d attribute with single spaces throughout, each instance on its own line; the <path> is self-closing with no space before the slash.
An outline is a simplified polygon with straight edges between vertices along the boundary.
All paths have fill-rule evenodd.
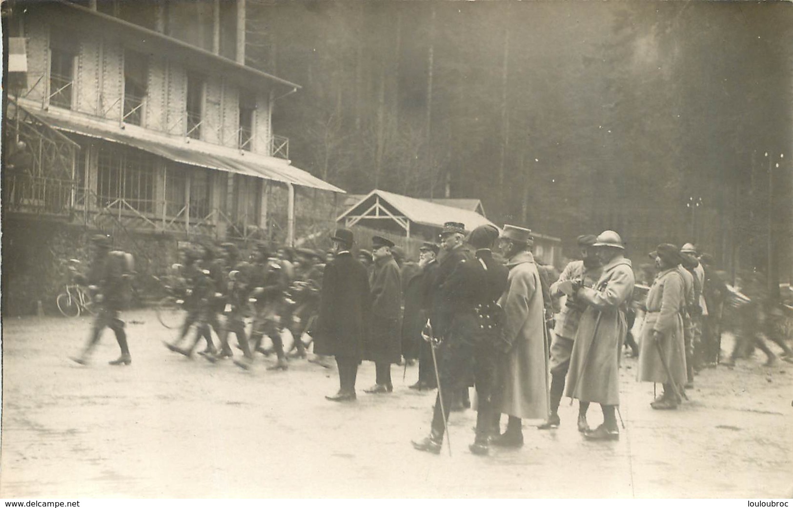
<path id="1" fill-rule="evenodd" d="M 254 351 L 265 353 L 262 349 L 262 339 L 266 335 L 273 341 L 273 348 L 278 356 L 275 365 L 267 370 L 286 370 L 284 343 L 281 339 L 281 313 L 284 306 L 284 292 L 289 287 L 289 281 L 281 265 L 270 259 L 270 251 L 266 243 L 257 246 L 256 262 L 252 269 L 251 296 L 256 299 L 251 340 L 254 342 Z"/>

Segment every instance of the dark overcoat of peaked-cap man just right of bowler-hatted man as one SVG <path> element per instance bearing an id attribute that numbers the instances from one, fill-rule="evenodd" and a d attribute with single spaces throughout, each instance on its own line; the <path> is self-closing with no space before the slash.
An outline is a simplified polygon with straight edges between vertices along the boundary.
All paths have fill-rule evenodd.
<path id="1" fill-rule="evenodd" d="M 402 282 L 399 266 L 393 258 L 374 263 L 370 275 L 372 320 L 364 343 L 364 360 L 397 363 L 402 354 L 400 342 L 400 300 Z"/>

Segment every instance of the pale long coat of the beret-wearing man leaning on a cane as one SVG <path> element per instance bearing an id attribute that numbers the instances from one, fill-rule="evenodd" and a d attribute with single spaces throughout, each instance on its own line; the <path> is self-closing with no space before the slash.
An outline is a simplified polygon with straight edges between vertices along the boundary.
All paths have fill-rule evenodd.
<path id="1" fill-rule="evenodd" d="M 672 372 L 672 380 L 676 384 L 686 382 L 686 346 L 681 315 L 685 300 L 683 277 L 677 269 L 670 268 L 659 273 L 647 295 L 647 314 L 639 346 L 638 380 L 668 383 L 668 376 L 653 338 L 653 332 L 657 331 L 663 334 L 659 345 L 666 365 Z"/>

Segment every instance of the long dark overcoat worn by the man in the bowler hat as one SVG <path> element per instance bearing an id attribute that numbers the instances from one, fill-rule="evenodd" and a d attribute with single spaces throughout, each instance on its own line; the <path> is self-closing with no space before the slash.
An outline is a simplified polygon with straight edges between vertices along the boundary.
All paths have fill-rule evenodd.
<path id="1" fill-rule="evenodd" d="M 366 268 L 349 252 L 337 254 L 324 269 L 314 353 L 360 360 L 370 302 Z"/>

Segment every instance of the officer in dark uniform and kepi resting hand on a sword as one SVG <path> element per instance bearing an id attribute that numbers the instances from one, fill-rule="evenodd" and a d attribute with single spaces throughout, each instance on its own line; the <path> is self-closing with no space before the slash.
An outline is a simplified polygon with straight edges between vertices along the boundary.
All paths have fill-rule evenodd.
<path id="1" fill-rule="evenodd" d="M 478 330 L 476 307 L 479 304 L 477 288 L 481 281 L 470 277 L 466 263 L 476 262 L 473 254 L 465 248 L 465 225 L 447 222 L 441 231 L 441 247 L 446 255 L 435 270 L 433 282 L 433 306 L 430 317 L 433 337 L 440 341 L 438 346 L 438 369 L 441 386 L 439 392 L 451 397 L 470 385 L 473 376 L 474 329 Z M 478 264 L 478 263 L 477 263 Z M 441 406 L 440 395 L 435 399 L 430 435 L 412 441 L 414 448 L 431 453 L 440 453 L 445 422 L 448 418 L 450 399 Z"/>

